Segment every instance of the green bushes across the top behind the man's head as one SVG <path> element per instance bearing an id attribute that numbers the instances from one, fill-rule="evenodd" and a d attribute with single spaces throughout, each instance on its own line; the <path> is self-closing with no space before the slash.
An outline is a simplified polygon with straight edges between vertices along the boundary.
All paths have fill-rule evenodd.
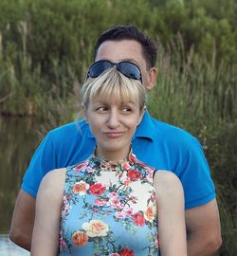
<path id="1" fill-rule="evenodd" d="M 73 92 L 68 69 L 82 82 L 98 35 L 117 24 L 134 24 L 163 46 L 181 33 L 185 52 L 194 47 L 209 63 L 214 52 L 216 65 L 235 64 L 236 10 L 234 0 L 2 0 L 1 112 L 42 115 L 39 99 L 52 84 L 65 100 Z"/>

